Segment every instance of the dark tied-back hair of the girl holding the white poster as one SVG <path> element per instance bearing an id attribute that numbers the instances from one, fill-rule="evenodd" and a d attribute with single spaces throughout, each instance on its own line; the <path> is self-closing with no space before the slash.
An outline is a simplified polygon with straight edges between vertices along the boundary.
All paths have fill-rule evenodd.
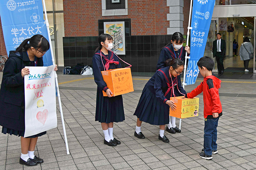
<path id="1" fill-rule="evenodd" d="M 40 51 L 47 51 L 50 48 L 48 40 L 40 34 L 36 34 L 31 38 L 25 39 L 18 48 L 16 52 L 27 51 L 29 48 L 34 47 Z"/>

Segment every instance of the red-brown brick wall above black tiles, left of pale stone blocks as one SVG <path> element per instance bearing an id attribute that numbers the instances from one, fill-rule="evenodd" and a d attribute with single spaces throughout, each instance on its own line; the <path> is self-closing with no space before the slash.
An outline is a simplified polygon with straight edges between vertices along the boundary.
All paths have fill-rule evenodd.
<path id="1" fill-rule="evenodd" d="M 98 36 L 98 20 L 131 19 L 132 35 L 166 35 L 166 0 L 129 0 L 128 15 L 102 16 L 101 0 L 63 0 L 65 37 Z"/>

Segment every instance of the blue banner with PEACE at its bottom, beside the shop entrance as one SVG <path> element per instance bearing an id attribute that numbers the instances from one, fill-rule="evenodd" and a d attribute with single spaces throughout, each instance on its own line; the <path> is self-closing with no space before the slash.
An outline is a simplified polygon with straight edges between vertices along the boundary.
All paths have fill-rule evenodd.
<path id="1" fill-rule="evenodd" d="M 203 57 L 213 15 L 215 0 L 193 0 L 190 31 L 190 59 L 186 71 L 187 85 L 195 84 L 199 74 L 198 60 Z"/>

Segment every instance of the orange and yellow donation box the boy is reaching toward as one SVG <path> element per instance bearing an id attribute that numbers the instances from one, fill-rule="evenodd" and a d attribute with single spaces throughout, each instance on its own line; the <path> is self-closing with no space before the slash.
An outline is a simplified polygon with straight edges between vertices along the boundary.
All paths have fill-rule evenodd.
<path id="1" fill-rule="evenodd" d="M 170 100 L 175 102 L 176 110 L 172 111 L 170 108 L 170 116 L 176 118 L 188 118 L 198 116 L 199 98 L 183 98 L 184 96 L 171 97 Z"/>

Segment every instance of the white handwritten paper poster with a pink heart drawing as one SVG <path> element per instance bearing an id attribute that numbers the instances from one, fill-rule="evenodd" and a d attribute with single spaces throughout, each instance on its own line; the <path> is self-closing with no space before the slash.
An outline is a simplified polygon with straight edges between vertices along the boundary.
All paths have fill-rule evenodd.
<path id="1" fill-rule="evenodd" d="M 54 65 L 26 68 L 24 137 L 57 127 Z"/>

